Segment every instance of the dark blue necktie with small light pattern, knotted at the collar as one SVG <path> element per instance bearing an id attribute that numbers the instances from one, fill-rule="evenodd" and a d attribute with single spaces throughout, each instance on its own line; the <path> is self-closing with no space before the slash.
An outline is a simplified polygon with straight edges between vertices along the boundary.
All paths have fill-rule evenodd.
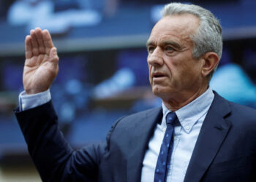
<path id="1" fill-rule="evenodd" d="M 173 151 L 174 125 L 176 124 L 176 113 L 170 112 L 166 116 L 165 137 L 157 159 L 157 166 L 154 172 L 154 182 L 165 182 L 167 171 L 170 166 L 170 156 Z"/>

